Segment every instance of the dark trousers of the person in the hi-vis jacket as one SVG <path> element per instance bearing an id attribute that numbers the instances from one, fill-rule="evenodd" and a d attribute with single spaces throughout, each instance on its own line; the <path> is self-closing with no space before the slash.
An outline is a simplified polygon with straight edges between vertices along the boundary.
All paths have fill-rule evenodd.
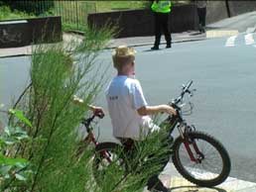
<path id="1" fill-rule="evenodd" d="M 168 27 L 169 14 L 154 13 L 155 14 L 155 47 L 159 47 L 161 41 L 161 33 L 164 32 L 167 46 L 171 46 L 172 38 Z"/>

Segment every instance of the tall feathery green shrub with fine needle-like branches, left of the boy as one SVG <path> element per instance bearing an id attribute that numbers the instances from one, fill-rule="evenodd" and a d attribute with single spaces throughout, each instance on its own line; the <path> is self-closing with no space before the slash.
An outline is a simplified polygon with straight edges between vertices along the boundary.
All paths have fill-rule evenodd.
<path id="1" fill-rule="evenodd" d="M 74 105 L 72 97 L 77 95 L 90 104 L 97 95 L 105 77 L 97 80 L 92 69 L 111 30 L 87 33 L 93 36 L 81 45 L 47 45 L 33 50 L 31 84 L 17 105 L 34 125 L 26 127 L 32 142 L 21 144 L 15 152 L 30 160 L 35 174 L 28 180 L 29 187 L 17 188 L 17 192 L 97 190 L 90 171 L 92 150 L 87 149 L 80 158 L 74 155 L 78 147 L 75 130 L 88 108 Z"/>

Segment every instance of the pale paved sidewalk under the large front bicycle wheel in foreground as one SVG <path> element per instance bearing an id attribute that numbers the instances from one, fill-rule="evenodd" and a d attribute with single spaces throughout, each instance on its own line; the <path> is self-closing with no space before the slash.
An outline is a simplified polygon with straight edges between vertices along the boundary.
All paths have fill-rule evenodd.
<path id="1" fill-rule="evenodd" d="M 256 183 L 228 177 L 225 182 L 214 188 L 196 187 L 184 179 L 176 170 L 173 163 L 168 163 L 164 172 L 160 175 L 164 184 L 170 187 L 172 192 L 255 192 Z M 144 190 L 148 192 L 148 190 Z"/>

